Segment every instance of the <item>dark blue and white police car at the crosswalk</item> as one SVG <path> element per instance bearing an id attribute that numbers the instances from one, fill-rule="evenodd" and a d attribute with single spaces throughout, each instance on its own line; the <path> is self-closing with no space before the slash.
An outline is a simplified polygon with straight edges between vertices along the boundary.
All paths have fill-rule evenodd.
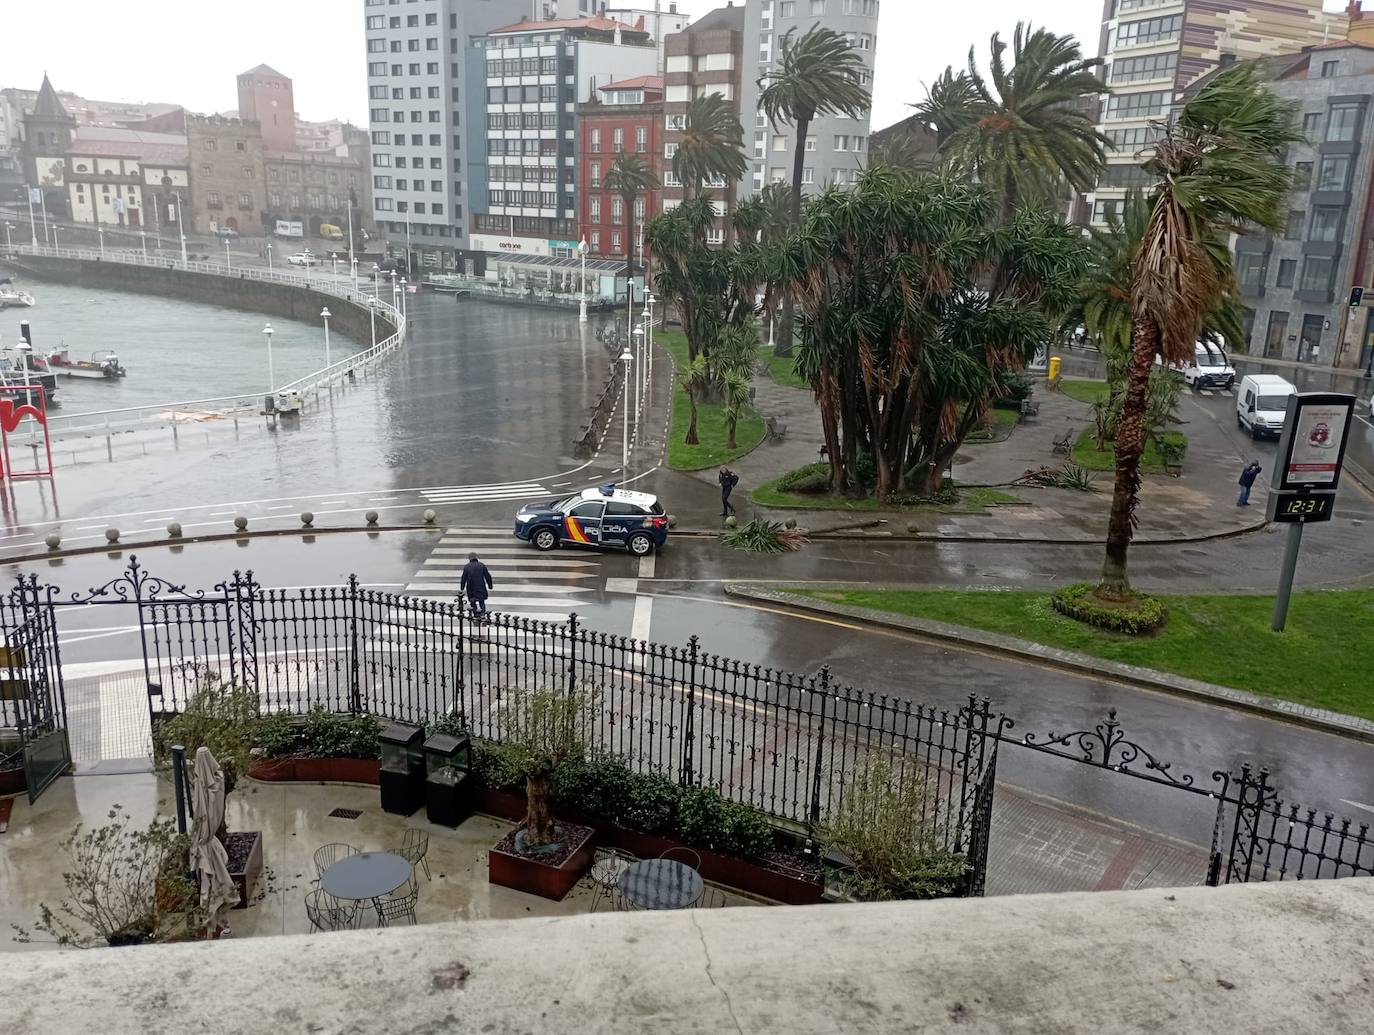
<path id="1" fill-rule="evenodd" d="M 668 517 L 657 496 L 606 484 L 550 503 L 526 503 L 515 515 L 515 537 L 536 550 L 569 543 L 644 557 L 668 542 Z"/>

